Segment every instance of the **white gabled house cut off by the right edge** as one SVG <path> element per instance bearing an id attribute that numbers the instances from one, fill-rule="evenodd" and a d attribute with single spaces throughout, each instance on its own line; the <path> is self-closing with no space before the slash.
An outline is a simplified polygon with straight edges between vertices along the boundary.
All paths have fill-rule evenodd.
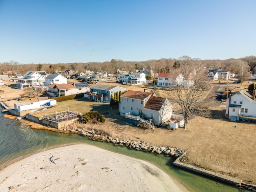
<path id="1" fill-rule="evenodd" d="M 255 95 L 255 90 L 254 95 Z M 240 90 L 230 96 L 226 102 L 226 118 L 232 121 L 256 119 L 255 96 Z"/>

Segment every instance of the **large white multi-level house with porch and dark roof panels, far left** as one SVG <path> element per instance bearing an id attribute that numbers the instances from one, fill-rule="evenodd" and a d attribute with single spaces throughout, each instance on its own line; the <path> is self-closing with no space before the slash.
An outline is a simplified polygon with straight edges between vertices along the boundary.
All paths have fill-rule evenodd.
<path id="1" fill-rule="evenodd" d="M 45 71 L 30 71 L 23 78 L 17 78 L 18 82 L 16 82 L 15 88 L 44 85 L 46 76 Z"/>

